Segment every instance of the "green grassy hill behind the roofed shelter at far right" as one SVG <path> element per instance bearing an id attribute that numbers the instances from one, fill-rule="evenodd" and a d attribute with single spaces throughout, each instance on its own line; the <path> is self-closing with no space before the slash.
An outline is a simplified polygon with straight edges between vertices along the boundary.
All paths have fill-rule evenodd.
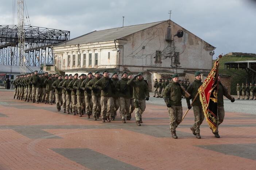
<path id="1" fill-rule="evenodd" d="M 219 67 L 219 73 L 220 74 L 226 74 L 231 76 L 231 94 L 236 95 L 236 84 L 239 82 L 241 85 L 242 82 L 246 82 L 247 72 L 242 69 L 225 69 L 224 63 L 229 61 L 244 61 L 244 60 L 256 60 L 256 58 L 253 57 L 240 57 L 240 56 L 229 56 L 225 55 L 222 58 L 220 58 L 220 67 Z M 213 63 L 216 60 L 213 61 Z"/>

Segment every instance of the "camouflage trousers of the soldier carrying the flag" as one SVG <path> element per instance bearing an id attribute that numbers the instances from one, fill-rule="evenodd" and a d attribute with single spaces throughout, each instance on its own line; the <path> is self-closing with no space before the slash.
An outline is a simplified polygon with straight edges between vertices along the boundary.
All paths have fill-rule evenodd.
<path id="1" fill-rule="evenodd" d="M 192 125 L 192 128 L 195 129 L 195 133 L 200 133 L 200 125 L 205 118 L 202 106 L 193 106 L 193 112 L 195 117 L 195 123 Z"/>

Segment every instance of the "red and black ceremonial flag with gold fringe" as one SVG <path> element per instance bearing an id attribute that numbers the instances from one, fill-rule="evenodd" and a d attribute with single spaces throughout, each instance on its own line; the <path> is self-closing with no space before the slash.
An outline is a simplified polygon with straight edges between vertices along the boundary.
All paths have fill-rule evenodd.
<path id="1" fill-rule="evenodd" d="M 221 58 L 221 55 L 219 58 Z M 198 89 L 203 113 L 205 114 L 206 121 L 213 130 L 213 133 L 217 130 L 218 60 L 214 63 L 211 72 Z"/>

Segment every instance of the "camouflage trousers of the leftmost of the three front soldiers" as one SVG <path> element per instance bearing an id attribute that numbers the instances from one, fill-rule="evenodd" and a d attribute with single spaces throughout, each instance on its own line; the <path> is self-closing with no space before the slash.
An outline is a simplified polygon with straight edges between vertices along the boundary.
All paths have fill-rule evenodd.
<path id="1" fill-rule="evenodd" d="M 167 109 L 170 118 L 170 131 L 176 131 L 182 120 L 182 106 L 171 106 L 171 108 Z"/>

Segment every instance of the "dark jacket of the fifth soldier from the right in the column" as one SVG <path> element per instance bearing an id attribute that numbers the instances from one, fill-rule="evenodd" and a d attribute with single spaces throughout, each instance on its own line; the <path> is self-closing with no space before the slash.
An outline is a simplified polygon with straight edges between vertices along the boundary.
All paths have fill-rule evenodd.
<path id="1" fill-rule="evenodd" d="M 112 83 L 109 77 L 103 77 L 94 84 L 94 87 L 101 90 L 100 96 L 113 97 Z"/>

